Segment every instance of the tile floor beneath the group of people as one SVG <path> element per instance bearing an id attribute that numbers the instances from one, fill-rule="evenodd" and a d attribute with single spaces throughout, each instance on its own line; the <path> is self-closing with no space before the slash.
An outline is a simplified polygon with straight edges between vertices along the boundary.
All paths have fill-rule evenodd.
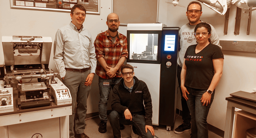
<path id="1" fill-rule="evenodd" d="M 88 135 L 90 138 L 113 138 L 113 132 L 111 125 L 108 121 L 107 123 L 107 132 L 104 134 L 101 134 L 98 132 L 98 124 L 100 120 L 98 117 L 95 117 L 93 119 L 86 120 L 86 128 L 85 128 L 85 134 Z M 182 117 L 178 116 L 175 119 L 175 125 L 174 129 L 177 128 L 179 125 L 182 124 Z M 155 135 L 158 138 L 190 138 L 190 131 L 184 132 L 183 134 L 175 134 L 173 131 L 173 128 L 171 131 L 166 131 L 166 126 L 153 126 L 155 130 Z M 131 128 L 129 125 L 125 125 L 125 129 L 121 130 L 122 138 L 131 138 Z M 140 138 L 140 137 L 139 137 Z M 156 138 L 156 137 L 155 137 Z M 209 131 L 209 138 L 221 138 L 220 136 L 212 133 Z"/>

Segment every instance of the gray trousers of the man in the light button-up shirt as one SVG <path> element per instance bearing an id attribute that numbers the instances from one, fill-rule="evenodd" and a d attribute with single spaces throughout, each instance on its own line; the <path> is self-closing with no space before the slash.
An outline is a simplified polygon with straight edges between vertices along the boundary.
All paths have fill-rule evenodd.
<path id="1" fill-rule="evenodd" d="M 74 137 L 74 127 L 76 134 L 84 133 L 86 126 L 85 116 L 87 111 L 87 97 L 91 86 L 85 86 L 87 76 L 91 70 L 80 73 L 77 71 L 66 70 L 66 75 L 64 77 L 63 83 L 67 86 L 72 97 L 72 115 L 69 116 L 69 137 Z M 77 103 L 77 104 L 76 104 Z M 76 108 L 76 118 L 75 117 Z M 75 124 L 74 124 L 75 120 Z"/>

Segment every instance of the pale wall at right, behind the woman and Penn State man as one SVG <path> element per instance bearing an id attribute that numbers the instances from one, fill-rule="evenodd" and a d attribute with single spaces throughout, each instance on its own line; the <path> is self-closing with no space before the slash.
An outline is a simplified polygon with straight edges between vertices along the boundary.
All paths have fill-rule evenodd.
<path id="1" fill-rule="evenodd" d="M 186 16 L 187 5 L 192 0 L 180 0 L 179 3 L 186 7 L 174 7 L 160 0 L 159 5 L 159 22 L 167 26 L 183 26 L 188 23 Z M 169 0 L 170 2 L 170 0 Z M 220 40 L 230 41 L 256 41 L 256 12 L 252 12 L 250 35 L 246 35 L 248 13 L 242 13 L 240 34 L 234 35 L 236 5 L 231 5 L 229 14 L 228 35 L 224 35 L 225 15 L 214 12 L 202 4 L 201 20 L 214 26 Z M 253 52 L 235 52 L 222 51 L 224 54 L 223 75 L 219 85 L 216 88 L 213 104 L 208 115 L 208 123 L 223 130 L 225 129 L 226 119 L 226 97 L 236 91 L 253 92 L 252 88 L 256 87 L 256 53 Z M 181 95 L 178 91 L 177 106 L 181 109 Z M 177 108 L 178 108 L 177 107 Z"/>

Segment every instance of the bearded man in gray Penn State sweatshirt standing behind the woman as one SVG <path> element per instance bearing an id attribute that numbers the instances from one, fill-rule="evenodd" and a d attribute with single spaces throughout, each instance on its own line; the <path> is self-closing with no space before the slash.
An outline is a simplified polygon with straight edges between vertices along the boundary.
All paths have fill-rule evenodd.
<path id="1" fill-rule="evenodd" d="M 177 63 L 178 63 L 177 78 L 178 78 L 179 85 L 180 85 L 180 73 L 182 70 L 184 55 L 186 53 L 186 50 L 190 45 L 197 44 L 195 35 L 194 35 L 195 26 L 198 23 L 203 22 L 200 20 L 200 16 L 202 16 L 201 4 L 198 1 L 191 1 L 187 7 L 186 16 L 189 19 L 189 23 L 183 25 L 180 28 L 180 32 L 179 32 L 180 52 L 178 53 L 179 57 L 177 59 Z M 212 25 L 210 25 L 210 26 L 211 26 L 211 36 L 210 36 L 211 44 L 220 46 L 220 40 L 216 33 L 216 30 L 214 29 L 214 27 Z M 222 47 L 220 46 L 220 48 L 222 48 Z M 183 96 L 182 96 L 181 88 L 180 88 L 180 93 L 181 93 L 183 124 L 174 130 L 174 133 L 176 133 L 176 134 L 182 134 L 186 131 L 191 130 L 191 123 L 190 123 L 191 116 L 190 116 L 187 102 L 186 102 L 185 98 L 183 98 Z"/>

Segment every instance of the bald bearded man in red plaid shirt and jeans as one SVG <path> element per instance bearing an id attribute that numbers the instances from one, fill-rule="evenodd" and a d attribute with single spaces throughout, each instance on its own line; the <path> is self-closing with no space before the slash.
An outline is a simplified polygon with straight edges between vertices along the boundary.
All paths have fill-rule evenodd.
<path id="1" fill-rule="evenodd" d="M 110 13 L 107 17 L 108 30 L 97 35 L 94 46 L 97 58 L 96 74 L 99 76 L 99 117 L 98 131 L 107 131 L 107 102 L 111 88 L 114 88 L 121 78 L 121 67 L 128 58 L 126 36 L 117 32 L 120 25 L 116 13 Z M 124 129 L 121 125 L 120 129 Z"/>

